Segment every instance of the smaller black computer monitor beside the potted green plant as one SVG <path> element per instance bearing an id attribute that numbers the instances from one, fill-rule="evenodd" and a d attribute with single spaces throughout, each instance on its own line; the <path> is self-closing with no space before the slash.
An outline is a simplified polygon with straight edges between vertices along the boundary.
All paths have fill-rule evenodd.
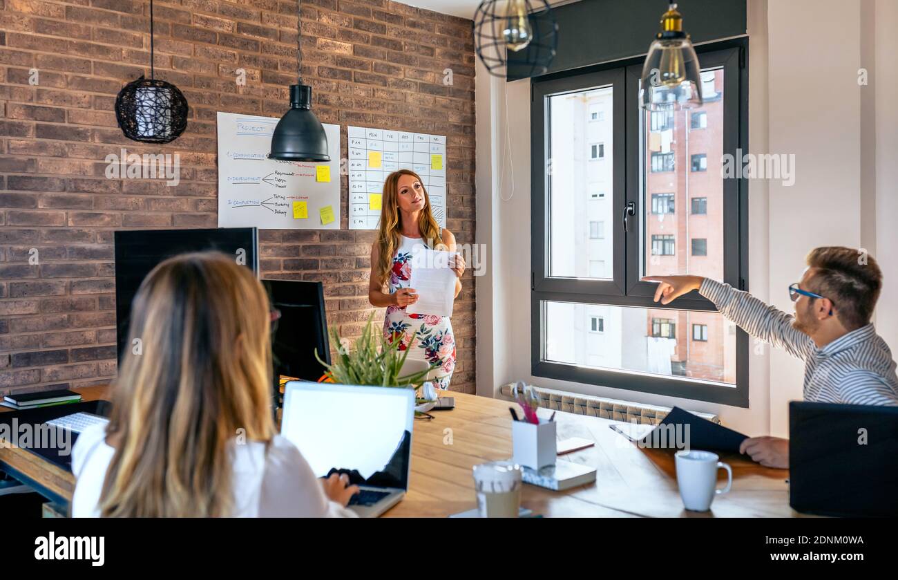
<path id="1" fill-rule="evenodd" d="M 274 375 L 318 380 L 325 369 L 315 359 L 330 364 L 328 321 L 324 313 L 321 282 L 263 280 L 271 308 L 279 317 L 271 323 L 271 359 Z"/>

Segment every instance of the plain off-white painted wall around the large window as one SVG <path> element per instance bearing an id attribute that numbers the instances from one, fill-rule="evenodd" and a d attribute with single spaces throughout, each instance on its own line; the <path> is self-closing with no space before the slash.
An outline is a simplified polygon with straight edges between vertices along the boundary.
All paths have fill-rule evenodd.
<path id="1" fill-rule="evenodd" d="M 800 278 L 808 250 L 816 245 L 875 244 L 878 252 L 868 249 L 885 272 L 876 322 L 886 341 L 898 348 L 898 308 L 888 308 L 898 299 L 898 228 L 893 223 L 898 218 L 898 112 L 892 104 L 898 72 L 884 68 L 898 53 L 898 39 L 891 34 L 898 25 L 898 3 L 864 3 L 749 0 L 750 150 L 795 154 L 797 165 L 791 187 L 779 181 L 749 184 L 750 290 L 790 311 L 787 287 Z M 875 17 L 862 19 L 862 10 L 875 10 Z M 872 28 L 875 31 L 868 30 Z M 839 33 L 822 41 L 822 30 Z M 874 75 L 873 65 L 861 63 L 862 42 L 869 42 L 871 34 L 875 40 L 867 52 L 882 64 L 876 70 L 881 76 L 875 85 L 859 87 L 859 67 L 871 67 Z M 801 397 L 804 367 L 766 345 L 752 345 L 748 409 L 531 375 L 530 83 L 487 83 L 484 76 L 479 67 L 477 229 L 478 241 L 489 244 L 491 267 L 477 281 L 478 394 L 494 395 L 499 385 L 524 379 L 548 388 L 713 412 L 744 433 L 788 434 L 788 400 Z M 864 114 L 874 114 L 876 131 L 862 149 L 865 89 L 875 91 L 875 112 L 867 106 Z M 876 155 L 872 170 L 861 163 L 861 152 L 870 143 Z M 491 165 L 482 165 L 487 163 Z M 504 174 L 501 191 L 498 174 Z M 873 183 L 876 191 L 871 194 Z M 500 201 L 500 194 L 510 199 Z M 868 239 L 862 224 L 871 220 L 876 236 Z M 486 344 L 482 326 L 491 326 L 491 344 Z"/>

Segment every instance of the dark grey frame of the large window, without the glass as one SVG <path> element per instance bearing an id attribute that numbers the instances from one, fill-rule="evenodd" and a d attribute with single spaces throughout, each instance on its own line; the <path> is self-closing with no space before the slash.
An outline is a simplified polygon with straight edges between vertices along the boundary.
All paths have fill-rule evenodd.
<path id="1" fill-rule="evenodd" d="M 724 69 L 723 152 L 735 156 L 737 148 L 748 150 L 748 47 L 747 38 L 722 40 L 699 45 L 703 68 Z M 629 58 L 571 71 L 560 71 L 531 79 L 531 372 L 535 377 L 561 379 L 600 387 L 620 388 L 709 403 L 748 407 L 749 336 L 736 328 L 735 386 L 679 375 L 659 376 L 638 371 L 579 367 L 545 360 L 543 335 L 546 328 L 545 302 L 558 301 L 617 307 L 669 308 L 717 312 L 717 308 L 697 291 L 677 299 L 673 305 L 653 301 L 656 284 L 641 281 L 646 254 L 644 225 L 646 203 L 643 179 L 644 134 L 640 125 L 638 83 L 644 58 Z M 547 97 L 577 93 L 590 88 L 612 86 L 613 163 L 610 194 L 612 202 L 612 280 L 551 278 L 549 272 L 550 183 L 546 171 L 549 152 L 550 115 Z M 718 94 L 720 98 L 720 94 Z M 607 117 L 606 117 L 607 119 Z M 686 168 L 687 171 L 691 167 Z M 623 212 L 632 203 L 636 212 L 624 232 Z M 748 183 L 743 179 L 723 183 L 724 279 L 745 290 L 748 280 Z M 654 316 L 657 316 L 656 314 Z M 727 337 L 725 335 L 725 340 Z"/>

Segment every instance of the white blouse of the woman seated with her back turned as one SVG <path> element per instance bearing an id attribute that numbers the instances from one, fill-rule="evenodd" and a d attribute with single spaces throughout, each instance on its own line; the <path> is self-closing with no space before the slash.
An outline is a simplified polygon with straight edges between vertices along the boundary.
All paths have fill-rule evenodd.
<path id="1" fill-rule="evenodd" d="M 75 495 L 72 517 L 99 517 L 100 494 L 114 449 L 106 442 L 106 426 L 92 425 L 78 436 L 72 450 Z M 234 517 L 355 517 L 330 501 L 321 480 L 296 449 L 275 435 L 265 443 L 233 444 Z"/>

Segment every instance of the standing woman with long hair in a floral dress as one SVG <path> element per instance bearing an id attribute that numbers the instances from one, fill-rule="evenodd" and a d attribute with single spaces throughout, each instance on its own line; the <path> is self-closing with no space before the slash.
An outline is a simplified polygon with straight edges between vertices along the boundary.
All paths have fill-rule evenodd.
<path id="1" fill-rule="evenodd" d="M 440 363 L 434 381 L 439 388 L 449 388 L 455 368 L 452 323 L 448 317 L 405 311 L 409 304 L 418 301 L 416 290 L 409 288 L 411 252 L 417 245 L 454 252 L 455 236 L 436 224 L 430 198 L 418 174 L 401 169 L 388 175 L 383 183 L 380 230 L 371 245 L 368 299 L 375 307 L 387 308 L 383 336 L 391 343 L 400 340 L 400 350 L 408 349 L 410 344 L 409 359 Z M 462 291 L 465 266 L 462 255 L 456 254 L 449 265 L 457 276 L 457 297 Z"/>

